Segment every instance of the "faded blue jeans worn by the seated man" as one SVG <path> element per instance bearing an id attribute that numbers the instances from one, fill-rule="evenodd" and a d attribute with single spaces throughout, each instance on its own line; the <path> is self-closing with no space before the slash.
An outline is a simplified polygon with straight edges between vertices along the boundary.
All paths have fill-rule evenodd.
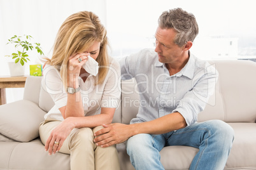
<path id="1" fill-rule="evenodd" d="M 224 169 L 234 140 L 234 130 L 223 121 L 193 124 L 165 134 L 137 134 L 127 141 L 127 154 L 136 170 L 164 169 L 160 150 L 183 145 L 199 148 L 189 169 Z"/>

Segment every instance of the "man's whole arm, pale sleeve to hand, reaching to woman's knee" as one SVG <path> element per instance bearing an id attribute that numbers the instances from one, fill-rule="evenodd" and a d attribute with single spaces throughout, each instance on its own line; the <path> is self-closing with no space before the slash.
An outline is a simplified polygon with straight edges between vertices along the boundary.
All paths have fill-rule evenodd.
<path id="1" fill-rule="evenodd" d="M 137 124 L 111 124 L 110 126 L 104 126 L 104 129 L 94 134 L 94 136 L 97 136 L 94 142 L 96 142 L 96 145 L 108 147 L 122 143 L 135 134 L 163 134 L 194 124 L 197 120 L 197 114 L 204 109 L 212 95 L 217 78 L 218 72 L 209 67 L 206 72 L 200 72 L 194 76 L 197 81 L 194 81 L 193 90 L 188 91 L 181 100 L 182 105 L 177 107 L 172 114 Z"/>

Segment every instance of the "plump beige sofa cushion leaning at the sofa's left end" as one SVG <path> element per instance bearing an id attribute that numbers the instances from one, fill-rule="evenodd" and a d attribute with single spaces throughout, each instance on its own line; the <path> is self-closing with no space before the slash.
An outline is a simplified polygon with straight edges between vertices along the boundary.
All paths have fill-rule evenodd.
<path id="1" fill-rule="evenodd" d="M 31 141 L 39 136 L 45 112 L 28 100 L 0 106 L 0 133 L 16 141 Z"/>

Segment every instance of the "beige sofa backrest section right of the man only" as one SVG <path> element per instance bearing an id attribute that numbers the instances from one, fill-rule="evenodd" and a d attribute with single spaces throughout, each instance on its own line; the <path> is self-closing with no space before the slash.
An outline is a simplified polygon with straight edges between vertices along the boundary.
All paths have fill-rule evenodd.
<path id="1" fill-rule="evenodd" d="M 248 60 L 209 61 L 219 77 L 216 93 L 199 114 L 199 121 L 220 119 L 225 122 L 256 121 L 256 63 Z"/>

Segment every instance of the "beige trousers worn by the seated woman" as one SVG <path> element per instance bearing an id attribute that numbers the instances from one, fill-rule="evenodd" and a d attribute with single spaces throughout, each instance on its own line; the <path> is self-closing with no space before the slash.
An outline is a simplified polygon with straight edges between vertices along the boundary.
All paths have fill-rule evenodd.
<path id="1" fill-rule="evenodd" d="M 45 145 L 48 136 L 52 130 L 60 124 L 61 121 L 51 121 L 41 123 L 39 135 Z M 70 154 L 70 166 L 72 170 L 76 169 L 120 169 L 117 149 L 115 146 L 101 148 L 94 143 L 94 133 L 103 126 L 96 128 L 73 129 L 68 138 L 64 141 L 59 152 Z"/>

